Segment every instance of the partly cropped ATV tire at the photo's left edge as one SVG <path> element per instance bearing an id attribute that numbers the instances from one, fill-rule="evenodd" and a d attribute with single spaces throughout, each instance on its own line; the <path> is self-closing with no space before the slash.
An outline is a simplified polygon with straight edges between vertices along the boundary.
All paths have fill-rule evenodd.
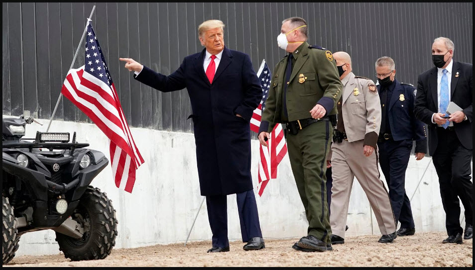
<path id="1" fill-rule="evenodd" d="M 20 241 L 20 236 L 17 235 L 18 230 L 16 229 L 16 219 L 13 214 L 13 206 L 8 202 L 8 198 L 1 196 L 2 202 L 2 214 L 3 214 L 3 246 L 1 249 L 2 255 L 2 264 L 6 264 L 13 257 L 15 257 L 15 252 L 18 250 L 18 241 Z"/>

